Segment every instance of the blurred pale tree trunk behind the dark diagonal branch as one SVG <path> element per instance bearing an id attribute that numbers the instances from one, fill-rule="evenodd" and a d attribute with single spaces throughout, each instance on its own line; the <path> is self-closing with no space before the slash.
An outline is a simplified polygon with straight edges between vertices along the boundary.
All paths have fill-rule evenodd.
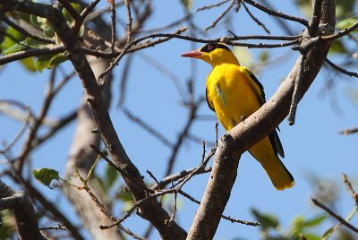
<path id="1" fill-rule="evenodd" d="M 91 68 L 98 75 L 107 68 L 109 64 L 107 60 L 90 61 Z M 111 81 L 111 75 L 108 74 L 106 78 L 107 82 Z M 107 106 L 110 101 L 110 84 L 104 90 L 107 96 Z M 82 107 L 77 114 L 77 126 L 73 135 L 72 147 L 69 153 L 69 159 L 65 167 L 66 178 L 71 177 L 71 183 L 81 186 L 82 183 L 74 174 L 75 167 L 79 174 L 84 177 L 87 176 L 90 167 L 93 165 L 97 154 L 90 148 L 90 144 L 94 144 L 99 148 L 100 135 L 98 133 L 91 133 L 93 129 L 96 129 L 96 123 L 90 114 L 90 109 L 83 99 Z M 98 192 L 96 187 L 91 187 L 91 179 L 88 182 L 91 192 L 98 198 L 105 207 L 106 204 L 102 199 L 102 194 Z M 101 230 L 100 225 L 110 225 L 112 220 L 98 208 L 96 202 L 90 198 L 89 193 L 86 191 L 80 191 L 71 185 L 64 184 L 63 190 L 65 196 L 71 201 L 73 208 L 76 210 L 78 216 L 81 219 L 83 227 L 89 232 L 91 239 L 123 239 L 118 228 L 112 227 L 107 230 Z M 108 209 L 108 208 L 107 208 Z"/>

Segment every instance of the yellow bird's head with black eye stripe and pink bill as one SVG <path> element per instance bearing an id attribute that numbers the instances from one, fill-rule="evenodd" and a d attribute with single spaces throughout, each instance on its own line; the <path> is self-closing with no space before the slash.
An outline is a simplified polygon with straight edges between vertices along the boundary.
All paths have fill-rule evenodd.
<path id="1" fill-rule="evenodd" d="M 233 52 L 223 43 L 208 43 L 182 56 L 199 58 L 212 66 L 217 64 L 239 64 Z"/>

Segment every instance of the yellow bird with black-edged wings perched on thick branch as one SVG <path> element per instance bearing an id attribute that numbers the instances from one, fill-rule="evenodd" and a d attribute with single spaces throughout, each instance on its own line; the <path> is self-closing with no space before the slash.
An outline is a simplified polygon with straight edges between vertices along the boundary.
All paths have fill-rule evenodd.
<path id="1" fill-rule="evenodd" d="M 206 82 L 209 108 L 217 114 L 224 128 L 232 129 L 265 103 L 263 87 L 247 67 L 241 66 L 234 53 L 222 43 L 209 43 L 182 56 L 199 58 L 212 66 Z M 294 185 L 294 177 L 278 159 L 285 153 L 276 130 L 249 150 L 268 173 L 278 190 Z"/>

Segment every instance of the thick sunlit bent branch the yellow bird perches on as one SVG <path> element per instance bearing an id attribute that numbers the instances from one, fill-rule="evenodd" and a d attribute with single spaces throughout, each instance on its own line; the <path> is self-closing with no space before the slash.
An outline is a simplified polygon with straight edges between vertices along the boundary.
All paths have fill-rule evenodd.
<path id="1" fill-rule="evenodd" d="M 321 9 L 320 23 L 328 24 L 333 30 L 335 24 L 334 0 L 323 1 Z M 305 40 L 303 40 L 303 46 L 304 44 Z M 303 97 L 311 82 L 320 72 L 329 46 L 329 42 L 321 42 L 308 51 L 304 62 L 304 69 L 307 71 L 303 79 L 300 98 Z M 265 105 L 227 132 L 219 142 L 207 189 L 187 239 L 212 239 L 214 237 L 221 214 L 230 197 L 239 156 L 254 143 L 271 133 L 287 116 L 294 90 L 294 79 L 297 77 L 300 64 L 301 61 L 296 61 L 291 73 L 287 75 L 286 80 Z"/>

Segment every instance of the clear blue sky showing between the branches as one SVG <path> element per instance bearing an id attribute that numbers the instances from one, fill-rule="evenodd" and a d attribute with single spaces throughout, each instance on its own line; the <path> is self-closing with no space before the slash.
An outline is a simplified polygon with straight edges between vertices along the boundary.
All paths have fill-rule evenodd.
<path id="1" fill-rule="evenodd" d="M 209 3 L 207 1 L 194 1 L 192 9 L 195 10 L 204 4 Z M 276 1 L 275 5 L 277 10 L 282 12 L 301 15 L 299 10 L 289 1 Z M 198 13 L 194 20 L 195 23 L 200 28 L 207 27 L 226 6 L 227 4 L 219 9 Z M 183 16 L 183 8 L 179 1 L 171 1 L 169 4 L 166 1 L 155 1 L 153 9 L 155 17 L 152 17 L 146 25 L 148 29 L 163 26 L 166 22 L 175 21 Z M 170 14 L 167 14 L 168 10 Z M 257 14 L 256 16 L 265 22 L 272 35 L 283 34 L 277 28 L 276 22 L 272 21 L 268 15 L 255 10 L 252 10 L 252 13 Z M 265 34 L 243 11 L 234 16 L 231 26 L 233 29 L 230 30 L 233 30 L 236 35 Z M 303 30 L 301 25 L 292 23 L 291 26 L 297 33 Z M 226 30 L 226 25 L 219 24 L 215 30 L 208 31 L 208 38 L 226 36 Z M 195 47 L 200 47 L 200 45 L 197 44 Z M 173 39 L 146 49 L 143 53 L 165 65 L 167 70 L 175 74 L 182 86 L 185 86 L 185 81 L 192 73 L 191 60 L 180 57 L 180 55 L 192 50 L 192 48 L 190 42 Z M 249 49 L 254 63 L 258 61 L 261 51 L 261 49 Z M 243 64 L 245 59 L 240 58 L 240 51 L 238 53 L 238 58 Z M 280 81 L 289 73 L 298 56 L 288 47 L 268 50 L 268 54 L 272 57 L 271 59 L 277 59 L 277 56 L 284 55 L 288 55 L 288 57 L 285 58 L 285 61 L 274 64 L 268 69 L 265 68 L 258 74 L 258 78 L 265 88 L 267 99 L 277 90 Z M 336 56 L 330 56 L 330 58 L 337 64 L 343 60 Z M 124 60 L 115 68 L 114 102 L 111 107 L 111 117 L 130 159 L 139 167 L 141 174 L 145 176 L 145 180 L 151 182 L 150 177 L 145 173 L 146 170 L 150 170 L 160 179 L 164 175 L 170 150 L 149 133 L 143 132 L 141 127 L 129 121 L 122 111 L 115 107 L 119 98 L 118 79 L 124 67 Z M 200 61 L 196 61 L 195 64 L 197 69 L 194 70 L 194 89 L 195 95 L 199 97 L 205 95 L 205 80 L 210 71 L 210 66 Z M 66 73 L 71 73 L 70 64 L 65 63 L 63 66 Z M 19 99 L 30 105 L 35 112 L 38 112 L 42 96 L 45 95 L 47 78 L 47 70 L 44 73 L 34 74 L 24 72 L 21 65 L 17 63 L 5 66 L 0 73 L 0 99 Z M 329 78 L 332 78 L 336 84 L 334 89 L 325 90 Z M 294 126 L 289 126 L 286 120 L 280 124 L 281 132 L 279 136 L 286 152 L 286 159 L 283 159 L 283 161 L 295 178 L 294 187 L 284 192 L 278 192 L 270 183 L 260 164 L 250 154 L 245 153 L 240 160 L 232 196 L 226 206 L 226 215 L 237 219 L 253 220 L 250 210 L 256 208 L 277 215 L 284 227 L 288 227 L 297 215 L 310 218 L 320 213 L 320 210 L 312 207 L 310 203 L 310 197 L 313 194 L 313 187 L 308 179 L 310 175 L 337 182 L 339 189 L 337 211 L 342 216 L 348 214 L 354 206 L 354 202 L 350 195 L 345 192 L 345 186 L 342 184 L 340 176 L 341 173 L 346 173 L 356 180 L 356 141 L 358 136 L 343 136 L 338 132 L 345 128 L 357 126 L 357 106 L 349 98 L 349 90 L 357 90 L 356 80 L 339 73 L 328 73 L 328 71 L 322 71 L 319 74 L 298 106 Z M 50 109 L 50 116 L 63 116 L 71 109 L 79 106 L 81 94 L 80 81 L 77 78 L 72 79 L 65 86 L 64 92 L 56 97 L 55 104 Z M 180 101 L 180 95 L 175 90 L 173 82 L 165 74 L 160 73 L 143 61 L 140 55 L 135 54 L 129 73 L 128 93 L 124 107 L 129 108 L 133 114 L 140 116 L 146 123 L 164 133 L 166 138 L 175 141 L 175 137 L 180 133 L 188 115 Z M 339 110 L 337 110 L 337 106 Z M 200 137 L 200 139 L 214 141 L 214 125 L 216 122 L 214 114 L 206 104 L 201 105 L 199 113 L 203 116 L 213 116 L 211 117 L 212 120 L 196 122 L 191 133 Z M 17 133 L 21 126 L 9 121 L 4 116 L 0 116 L 0 123 L 0 133 L 2 133 L 0 137 L 7 141 L 12 139 L 12 136 Z M 41 149 L 36 150 L 31 156 L 31 159 L 33 159 L 32 167 L 51 167 L 63 174 L 74 127 L 75 124 L 66 127 L 63 132 L 55 136 L 53 141 L 47 142 Z M 219 134 L 223 133 L 224 130 L 220 126 Z M 18 152 L 20 146 L 15 146 L 14 153 Z M 175 163 L 175 172 L 198 166 L 200 156 L 200 144 L 185 141 Z M 209 165 L 211 166 L 211 164 L 210 161 Z M 102 168 L 99 167 L 98 172 Z M 209 174 L 193 178 L 190 183 L 185 185 L 183 190 L 200 199 L 208 177 Z M 55 191 L 49 191 L 44 186 L 38 185 L 38 188 L 46 192 L 54 201 L 58 197 Z M 168 201 L 171 204 L 170 200 Z M 61 201 L 61 206 L 64 212 L 73 218 L 72 210 L 69 210 L 66 201 Z M 186 199 L 180 201 L 177 221 L 186 230 L 189 230 L 192 224 L 193 214 L 197 207 L 195 203 Z M 115 215 L 121 216 L 119 212 L 115 212 Z M 138 221 L 141 221 L 141 224 L 138 224 Z M 332 222 L 328 223 L 331 224 Z M 353 223 L 357 224 L 357 219 L 354 219 Z M 147 224 L 139 217 L 132 215 L 130 219 L 124 222 L 124 226 L 141 235 Z M 325 229 L 321 230 L 321 233 L 323 233 Z M 154 235 L 152 239 L 157 237 L 157 235 Z M 215 239 L 234 239 L 234 237 L 260 238 L 259 230 L 256 227 L 241 226 L 222 220 Z"/>

